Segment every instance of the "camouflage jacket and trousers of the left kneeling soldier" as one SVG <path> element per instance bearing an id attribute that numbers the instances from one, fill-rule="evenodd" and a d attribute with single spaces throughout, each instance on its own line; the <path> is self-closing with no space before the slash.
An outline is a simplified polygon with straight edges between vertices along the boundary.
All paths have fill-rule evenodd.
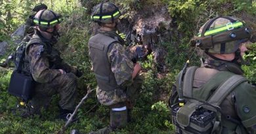
<path id="1" fill-rule="evenodd" d="M 64 110 L 74 110 L 77 77 L 76 69 L 64 63 L 60 52 L 53 47 L 56 39 L 47 40 L 37 31 L 26 48 L 26 58 L 30 61 L 29 70 L 37 82 L 31 100 L 33 108 L 39 112 L 43 105 L 49 105 L 54 94 L 60 94 L 59 106 Z M 62 75 L 58 69 L 63 69 Z"/>

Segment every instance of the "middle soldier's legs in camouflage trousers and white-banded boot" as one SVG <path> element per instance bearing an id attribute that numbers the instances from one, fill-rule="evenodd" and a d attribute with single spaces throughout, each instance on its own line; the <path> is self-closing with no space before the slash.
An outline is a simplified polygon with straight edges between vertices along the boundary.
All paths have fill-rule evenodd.
<path id="1" fill-rule="evenodd" d="M 91 134 L 108 134 L 116 128 L 123 128 L 129 120 L 129 111 L 135 104 L 135 99 L 139 97 L 139 89 L 142 86 L 142 76 L 136 76 L 133 84 L 125 90 L 102 91 L 97 89 L 98 101 L 102 105 L 110 107 L 110 126 L 92 131 Z"/>

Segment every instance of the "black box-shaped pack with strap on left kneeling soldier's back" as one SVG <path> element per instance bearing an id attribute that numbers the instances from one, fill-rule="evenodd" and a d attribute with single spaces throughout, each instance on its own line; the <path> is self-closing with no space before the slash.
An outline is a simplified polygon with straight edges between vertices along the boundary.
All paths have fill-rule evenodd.
<path id="1" fill-rule="evenodd" d="M 26 41 L 29 41 L 30 38 L 31 37 L 25 37 L 13 54 L 15 69 L 12 72 L 8 89 L 8 92 L 11 95 L 20 97 L 23 101 L 28 101 L 28 99 L 32 97 L 32 91 L 35 85 L 35 81 L 33 80 L 29 69 L 26 69 L 25 67 L 25 65 L 29 63 L 25 56 L 26 45 L 28 44 Z"/>

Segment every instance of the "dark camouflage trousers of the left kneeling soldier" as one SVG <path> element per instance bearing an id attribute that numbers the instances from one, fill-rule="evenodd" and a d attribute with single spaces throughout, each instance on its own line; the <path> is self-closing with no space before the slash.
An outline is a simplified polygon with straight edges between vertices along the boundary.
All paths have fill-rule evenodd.
<path id="1" fill-rule="evenodd" d="M 58 105 L 62 109 L 74 110 L 77 95 L 77 77 L 73 73 L 60 75 L 50 83 L 37 84 L 35 92 L 30 101 L 35 113 L 39 114 L 42 107 L 47 108 L 51 102 L 51 97 L 60 95 Z"/>

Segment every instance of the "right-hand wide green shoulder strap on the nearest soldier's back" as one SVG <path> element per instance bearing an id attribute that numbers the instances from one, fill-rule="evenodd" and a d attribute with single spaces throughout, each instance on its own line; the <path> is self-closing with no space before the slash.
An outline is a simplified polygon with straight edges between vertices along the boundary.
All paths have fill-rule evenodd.
<path id="1" fill-rule="evenodd" d="M 241 75 L 231 76 L 230 78 L 228 78 L 228 80 L 223 82 L 223 84 L 221 84 L 221 86 L 219 86 L 217 90 L 215 90 L 213 95 L 211 95 L 211 97 L 209 98 L 208 103 L 219 106 L 223 102 L 223 99 L 226 97 L 226 95 L 232 92 L 232 90 L 236 86 L 238 86 L 239 84 L 245 81 L 246 81 L 246 78 L 244 78 L 244 76 L 241 76 Z"/>

